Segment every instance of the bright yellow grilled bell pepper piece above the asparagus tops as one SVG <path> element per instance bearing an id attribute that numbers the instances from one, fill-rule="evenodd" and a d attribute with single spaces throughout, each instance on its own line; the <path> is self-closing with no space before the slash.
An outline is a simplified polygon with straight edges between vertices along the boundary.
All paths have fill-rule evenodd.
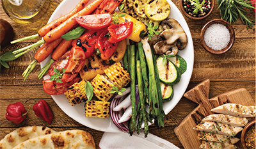
<path id="1" fill-rule="evenodd" d="M 118 16 L 119 23 L 122 23 L 125 21 L 133 22 L 132 33 L 131 33 L 131 35 L 129 35 L 127 37 L 127 39 L 130 39 L 134 42 L 140 42 L 140 40 L 141 40 L 140 33 L 141 33 L 141 31 L 142 31 L 142 33 L 146 33 L 146 31 L 147 31 L 146 26 L 143 24 L 143 22 L 136 20 L 134 17 L 131 17 L 131 15 L 128 15 L 126 13 L 125 13 L 124 17 Z"/>

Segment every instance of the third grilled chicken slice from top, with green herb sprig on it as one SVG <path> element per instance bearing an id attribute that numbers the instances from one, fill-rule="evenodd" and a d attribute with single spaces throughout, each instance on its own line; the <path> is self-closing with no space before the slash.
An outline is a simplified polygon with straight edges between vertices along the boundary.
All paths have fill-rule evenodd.
<path id="1" fill-rule="evenodd" d="M 212 132 L 213 134 L 221 134 L 224 136 L 236 136 L 238 132 L 243 130 L 242 127 L 236 127 L 219 122 L 202 122 L 193 129 L 204 132 Z"/>

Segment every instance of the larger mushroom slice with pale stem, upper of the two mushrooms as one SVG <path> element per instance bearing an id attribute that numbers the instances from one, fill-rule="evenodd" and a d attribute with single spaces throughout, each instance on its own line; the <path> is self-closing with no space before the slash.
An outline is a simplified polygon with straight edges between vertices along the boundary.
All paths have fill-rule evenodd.
<path id="1" fill-rule="evenodd" d="M 175 19 L 168 18 L 163 20 L 161 25 L 165 30 L 158 35 L 158 40 L 163 38 L 168 45 L 176 44 L 179 50 L 183 50 L 188 43 L 188 38 L 179 22 Z"/>

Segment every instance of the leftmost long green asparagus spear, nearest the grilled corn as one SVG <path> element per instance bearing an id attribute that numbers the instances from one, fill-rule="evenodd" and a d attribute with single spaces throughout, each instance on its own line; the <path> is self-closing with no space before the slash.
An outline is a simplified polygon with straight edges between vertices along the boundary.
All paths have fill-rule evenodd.
<path id="1" fill-rule="evenodd" d="M 130 122 L 130 131 L 136 130 L 136 88 L 135 88 L 135 76 L 136 76 L 136 68 L 135 68 L 135 45 L 130 45 L 130 58 L 131 62 L 129 64 L 131 71 L 131 102 L 132 102 L 132 118 Z"/>

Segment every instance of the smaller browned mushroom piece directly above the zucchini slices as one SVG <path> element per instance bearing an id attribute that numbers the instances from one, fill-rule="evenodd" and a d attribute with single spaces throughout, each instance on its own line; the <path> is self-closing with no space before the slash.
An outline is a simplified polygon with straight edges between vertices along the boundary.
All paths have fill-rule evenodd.
<path id="1" fill-rule="evenodd" d="M 176 55 L 179 51 L 175 44 L 169 45 L 166 40 L 161 40 L 154 45 L 154 54 L 162 55 Z"/>

